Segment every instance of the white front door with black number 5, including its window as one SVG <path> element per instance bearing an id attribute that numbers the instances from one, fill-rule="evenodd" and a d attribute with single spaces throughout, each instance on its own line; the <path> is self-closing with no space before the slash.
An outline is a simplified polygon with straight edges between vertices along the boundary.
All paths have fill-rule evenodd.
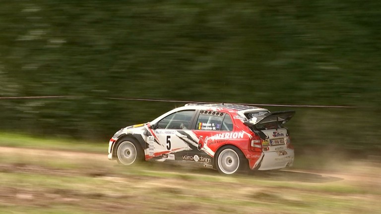
<path id="1" fill-rule="evenodd" d="M 157 123 L 155 135 L 158 143 L 154 144 L 153 160 L 182 160 L 184 152 L 186 153 L 189 148 L 187 135 L 179 131 L 190 129 L 194 114 L 195 110 L 177 111 Z"/>

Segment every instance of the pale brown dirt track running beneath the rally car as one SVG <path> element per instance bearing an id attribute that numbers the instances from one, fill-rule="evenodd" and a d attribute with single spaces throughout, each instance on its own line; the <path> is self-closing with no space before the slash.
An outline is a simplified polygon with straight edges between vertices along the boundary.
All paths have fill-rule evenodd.
<path id="1" fill-rule="evenodd" d="M 107 167 L 117 167 L 116 161 L 110 161 L 107 159 L 107 154 L 96 154 L 96 153 L 83 153 L 83 152 L 72 152 L 72 151 L 57 151 L 57 150 L 43 150 L 43 149 L 27 149 L 27 148 L 12 148 L 12 147 L 0 147 L 0 156 L 13 156 L 16 158 L 30 158 L 33 160 L 62 160 L 71 163 L 87 163 L 92 162 L 95 165 L 102 164 Z M 33 161 L 31 161 L 33 163 Z M 1 162 L 0 162 L 1 163 Z M 351 163 L 350 168 L 356 168 L 356 173 L 351 170 L 337 170 L 337 171 L 317 171 L 317 170 L 298 170 L 298 169 L 284 169 L 280 171 L 257 171 L 253 173 L 254 177 L 259 178 L 271 178 L 272 180 L 280 181 L 296 181 L 296 182 L 333 182 L 339 180 L 348 181 L 361 181 L 367 183 L 374 183 L 375 185 L 381 185 L 381 168 L 375 165 L 369 165 L 367 162 L 356 162 Z M 6 164 L 1 164 L 5 167 Z M 31 164 L 24 167 L 32 167 Z M 165 164 L 164 164 L 165 165 Z M 159 169 L 163 170 L 163 164 L 158 164 Z M 10 166 L 8 166 L 10 167 Z M 185 172 L 184 170 L 178 170 L 176 166 L 164 166 L 167 171 L 172 171 L 172 173 L 207 173 L 216 174 L 216 171 L 211 169 L 191 169 Z M 374 170 L 373 170 L 374 168 Z M 39 169 L 41 170 L 41 169 Z M 150 167 L 149 170 L 155 171 L 155 167 Z M 364 172 L 364 173 L 359 173 Z"/>

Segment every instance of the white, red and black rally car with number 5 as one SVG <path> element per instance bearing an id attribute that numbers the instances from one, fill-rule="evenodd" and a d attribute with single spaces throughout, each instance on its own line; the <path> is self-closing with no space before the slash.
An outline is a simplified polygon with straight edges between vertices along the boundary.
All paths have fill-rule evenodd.
<path id="1" fill-rule="evenodd" d="M 235 104 L 187 104 L 151 122 L 122 128 L 110 139 L 108 159 L 195 164 L 222 174 L 292 166 L 294 149 L 283 125 L 295 111 Z"/>

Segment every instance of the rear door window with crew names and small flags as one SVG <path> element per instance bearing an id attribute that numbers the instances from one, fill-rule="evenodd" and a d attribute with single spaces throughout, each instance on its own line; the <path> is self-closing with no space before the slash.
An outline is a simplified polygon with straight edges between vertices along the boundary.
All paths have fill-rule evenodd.
<path id="1" fill-rule="evenodd" d="M 224 113 L 215 111 L 200 111 L 197 118 L 195 130 L 219 131 L 222 126 Z"/>

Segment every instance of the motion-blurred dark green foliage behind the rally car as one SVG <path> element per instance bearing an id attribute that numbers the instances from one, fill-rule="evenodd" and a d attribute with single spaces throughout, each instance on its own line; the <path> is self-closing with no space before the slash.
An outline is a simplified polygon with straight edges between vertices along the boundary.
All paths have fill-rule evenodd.
<path id="1" fill-rule="evenodd" d="M 379 0 L 3 0 L 0 19 L 0 97 L 77 96 L 0 100 L 2 130 L 106 140 L 175 107 L 105 97 L 348 105 L 269 110 L 297 110 L 297 149 L 381 151 Z"/>

